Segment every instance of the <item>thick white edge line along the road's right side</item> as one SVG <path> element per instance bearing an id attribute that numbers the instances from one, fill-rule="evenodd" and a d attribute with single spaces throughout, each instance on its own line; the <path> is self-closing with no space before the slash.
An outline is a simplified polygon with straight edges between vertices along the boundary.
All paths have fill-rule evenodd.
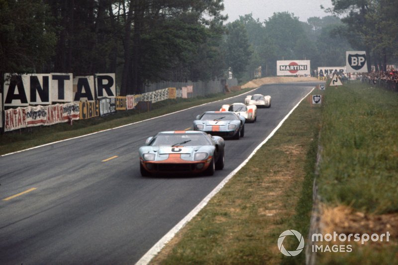
<path id="1" fill-rule="evenodd" d="M 256 88 L 257 89 L 257 88 Z M 288 119 L 288 117 L 293 113 L 293 111 L 298 107 L 304 98 L 306 98 L 315 88 L 312 88 L 304 97 L 298 101 L 298 103 L 289 111 L 289 113 L 279 122 L 277 127 L 261 142 L 253 152 L 243 161 L 236 169 L 234 169 L 228 176 L 226 176 L 204 199 L 187 215 L 185 216 L 177 225 L 175 225 L 166 235 L 164 235 L 147 253 L 142 256 L 142 258 L 136 263 L 136 265 L 147 265 L 163 248 L 164 246 L 173 239 L 173 237 L 189 222 L 191 221 L 204 206 L 210 201 L 215 194 L 217 194 L 221 188 L 241 169 L 247 162 L 257 153 L 257 151 L 268 142 L 268 140 L 274 136 L 274 134 L 279 130 L 282 124 Z"/>

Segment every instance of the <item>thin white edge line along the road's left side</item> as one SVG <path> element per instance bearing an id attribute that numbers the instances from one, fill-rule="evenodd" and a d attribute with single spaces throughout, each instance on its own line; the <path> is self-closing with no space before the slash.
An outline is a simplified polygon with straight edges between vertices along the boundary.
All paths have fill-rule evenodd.
<path id="1" fill-rule="evenodd" d="M 260 87 L 261 87 L 261 86 L 260 86 Z M 260 87 L 258 87 L 258 88 L 260 88 Z M 21 153 L 21 152 L 28 151 L 28 150 L 32 150 L 32 149 L 36 149 L 36 148 L 40 148 L 40 147 L 44 147 L 44 146 L 48 146 L 48 145 L 53 145 L 53 144 L 57 144 L 57 143 L 62 143 L 62 142 L 66 142 L 66 141 L 69 141 L 69 140 L 74 140 L 74 139 L 78 139 L 78 138 L 82 138 L 82 137 L 94 135 L 94 134 L 97 134 L 97 133 L 102 133 L 102 132 L 106 132 L 106 131 L 110 131 L 110 130 L 115 130 L 115 129 L 123 128 L 123 127 L 130 126 L 130 125 L 134 125 L 134 124 L 137 124 L 137 123 L 140 123 L 140 122 L 144 122 L 144 121 L 148 121 L 148 120 L 153 120 L 153 119 L 165 117 L 165 116 L 172 115 L 172 114 L 175 114 L 175 113 L 178 113 L 178 112 L 181 112 L 181 111 L 185 111 L 185 110 L 188 110 L 188 109 L 192 109 L 192 108 L 204 106 L 204 105 L 206 105 L 206 104 L 215 103 L 215 102 L 219 102 L 219 101 L 222 101 L 222 100 L 227 100 L 227 99 L 231 99 L 231 98 L 234 98 L 234 97 L 238 97 L 238 96 L 241 96 L 241 95 L 250 93 L 250 92 L 252 92 L 252 91 L 255 91 L 255 90 L 257 90 L 258 88 L 251 89 L 251 90 L 246 91 L 246 92 L 244 92 L 244 93 L 241 93 L 241 94 L 239 94 L 239 95 L 235 95 L 235 96 L 227 97 L 227 98 L 224 98 L 224 99 L 219 99 L 219 100 L 215 100 L 215 101 L 203 103 L 203 104 L 200 104 L 200 105 L 197 105 L 197 106 L 193 106 L 193 107 L 189 107 L 189 108 L 186 108 L 186 109 L 177 110 L 177 111 L 174 111 L 174 112 L 171 112 L 171 113 L 167 113 L 167 114 L 164 114 L 164 115 L 161 115 L 161 116 L 156 116 L 156 117 L 149 118 L 149 119 L 146 119 L 146 120 L 140 120 L 140 121 L 136 121 L 136 122 L 133 122 L 133 123 L 124 124 L 124 125 L 121 125 L 121 126 L 118 126 L 118 127 L 109 128 L 109 129 L 101 130 L 101 131 L 94 132 L 94 133 L 89 133 L 89 134 L 85 134 L 85 135 L 80 135 L 80 136 L 76 136 L 76 137 L 72 137 L 72 138 L 68 138 L 68 139 L 64 139 L 64 140 L 60 140 L 60 141 L 56 141 L 56 142 L 51 142 L 51 143 L 44 144 L 44 145 L 39 145 L 39 146 L 35 146 L 35 147 L 31 147 L 31 148 L 27 148 L 27 149 L 15 151 L 15 152 L 12 152 L 12 153 L 0 155 L 0 157 L 5 157 L 5 156 L 9 156 L 9 155 Z"/>

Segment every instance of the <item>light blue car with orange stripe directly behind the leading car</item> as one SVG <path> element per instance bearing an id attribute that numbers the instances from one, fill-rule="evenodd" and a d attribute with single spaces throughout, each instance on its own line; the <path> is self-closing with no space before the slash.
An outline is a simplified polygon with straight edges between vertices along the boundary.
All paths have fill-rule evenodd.
<path id="1" fill-rule="evenodd" d="M 194 130 L 223 138 L 239 139 L 245 135 L 245 117 L 230 111 L 206 111 L 194 120 Z"/>

